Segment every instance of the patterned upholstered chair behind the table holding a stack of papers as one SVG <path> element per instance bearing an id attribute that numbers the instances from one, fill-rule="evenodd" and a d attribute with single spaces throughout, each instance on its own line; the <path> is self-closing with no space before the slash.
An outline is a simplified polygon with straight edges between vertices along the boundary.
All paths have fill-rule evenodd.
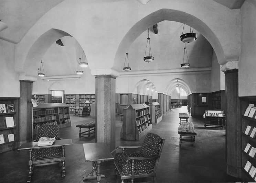
<path id="1" fill-rule="evenodd" d="M 59 136 L 60 132 L 57 125 L 40 126 L 35 141 L 38 141 L 40 137 L 55 137 L 56 140 L 59 140 L 61 139 Z M 63 166 L 63 151 L 62 147 L 32 149 L 32 164 L 33 166 L 40 166 L 60 163 L 60 166 Z"/>

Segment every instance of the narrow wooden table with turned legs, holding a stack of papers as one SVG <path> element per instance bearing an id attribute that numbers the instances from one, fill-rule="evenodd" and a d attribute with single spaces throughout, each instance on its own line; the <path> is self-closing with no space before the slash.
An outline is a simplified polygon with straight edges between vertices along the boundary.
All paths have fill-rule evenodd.
<path id="1" fill-rule="evenodd" d="M 61 139 L 55 140 L 51 146 L 38 146 L 38 142 L 26 142 L 18 148 L 18 150 L 29 150 L 29 179 L 27 182 L 31 182 L 32 176 L 32 166 L 35 164 L 49 163 L 55 161 L 62 161 L 62 176 L 65 176 L 65 146 L 72 145 L 72 139 Z M 40 149 L 40 148 L 51 148 L 51 147 L 59 147 L 62 146 L 62 157 L 49 157 L 43 160 L 33 160 L 32 159 L 32 149 Z"/>

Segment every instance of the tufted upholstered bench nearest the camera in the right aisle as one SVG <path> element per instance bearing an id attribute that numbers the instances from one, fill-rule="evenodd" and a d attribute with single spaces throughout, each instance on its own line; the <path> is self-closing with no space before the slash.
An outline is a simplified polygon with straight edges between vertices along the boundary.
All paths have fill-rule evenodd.
<path id="1" fill-rule="evenodd" d="M 196 131 L 195 131 L 194 124 L 192 122 L 180 122 L 178 133 L 180 135 L 180 146 L 181 146 L 182 141 L 183 142 L 192 142 L 193 145 L 194 145 L 195 136 L 197 134 L 196 134 Z M 190 136 L 191 141 L 187 141 L 185 139 L 182 139 L 182 136 Z"/>

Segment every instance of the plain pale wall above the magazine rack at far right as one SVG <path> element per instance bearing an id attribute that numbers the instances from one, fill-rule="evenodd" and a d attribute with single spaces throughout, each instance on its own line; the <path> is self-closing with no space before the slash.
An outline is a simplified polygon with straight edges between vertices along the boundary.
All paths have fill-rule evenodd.
<path id="1" fill-rule="evenodd" d="M 238 63 L 238 95 L 256 95 L 256 1 L 246 0 L 241 8 L 241 56 Z"/>

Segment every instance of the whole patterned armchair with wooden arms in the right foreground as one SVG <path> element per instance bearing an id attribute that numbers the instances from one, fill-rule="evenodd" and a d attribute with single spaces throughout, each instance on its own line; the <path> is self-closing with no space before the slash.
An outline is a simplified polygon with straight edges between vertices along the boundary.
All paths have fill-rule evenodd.
<path id="1" fill-rule="evenodd" d="M 116 149 L 123 149 L 115 155 L 114 164 L 116 170 L 121 176 L 122 183 L 124 179 L 143 178 L 152 176 L 156 182 L 156 169 L 163 149 L 165 139 L 157 134 L 148 133 L 142 146 L 119 146 Z M 125 149 L 140 149 L 139 152 L 125 152 Z"/>

